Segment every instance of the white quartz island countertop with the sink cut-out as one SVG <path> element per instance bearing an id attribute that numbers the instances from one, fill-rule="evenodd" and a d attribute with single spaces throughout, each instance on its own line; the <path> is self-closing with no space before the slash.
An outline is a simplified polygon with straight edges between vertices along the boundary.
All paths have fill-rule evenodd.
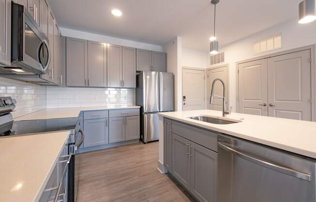
<path id="1" fill-rule="evenodd" d="M 226 125 L 188 118 L 201 115 L 221 118 L 221 111 L 213 110 L 165 112 L 158 115 L 316 159 L 316 122 L 238 113 L 232 113 L 227 118 L 241 122 Z"/>

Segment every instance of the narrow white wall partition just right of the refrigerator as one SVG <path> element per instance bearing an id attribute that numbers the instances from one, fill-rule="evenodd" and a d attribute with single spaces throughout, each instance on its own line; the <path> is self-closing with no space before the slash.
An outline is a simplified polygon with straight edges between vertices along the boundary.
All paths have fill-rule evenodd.
<path id="1" fill-rule="evenodd" d="M 174 73 L 174 110 L 182 110 L 182 38 L 177 36 L 163 46 L 167 52 L 167 71 Z"/>

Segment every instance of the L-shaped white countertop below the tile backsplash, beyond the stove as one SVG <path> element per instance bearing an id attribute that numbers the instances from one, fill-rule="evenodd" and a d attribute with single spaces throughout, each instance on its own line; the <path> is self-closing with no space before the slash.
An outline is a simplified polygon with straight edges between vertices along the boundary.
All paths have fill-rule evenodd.
<path id="1" fill-rule="evenodd" d="M 140 108 L 137 105 L 120 105 L 120 106 L 92 106 L 92 107 L 67 107 L 67 108 L 48 108 L 33 112 L 22 117 L 15 118 L 18 120 L 37 120 L 50 118 L 74 118 L 78 117 L 81 111 L 90 110 L 113 110 L 113 109 L 130 109 Z"/>

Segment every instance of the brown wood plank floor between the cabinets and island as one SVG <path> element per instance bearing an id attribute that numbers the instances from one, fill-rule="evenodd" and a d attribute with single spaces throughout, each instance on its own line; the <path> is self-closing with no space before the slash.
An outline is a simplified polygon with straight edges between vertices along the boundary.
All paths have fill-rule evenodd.
<path id="1" fill-rule="evenodd" d="M 158 142 L 79 155 L 79 202 L 196 202 L 158 171 Z"/>

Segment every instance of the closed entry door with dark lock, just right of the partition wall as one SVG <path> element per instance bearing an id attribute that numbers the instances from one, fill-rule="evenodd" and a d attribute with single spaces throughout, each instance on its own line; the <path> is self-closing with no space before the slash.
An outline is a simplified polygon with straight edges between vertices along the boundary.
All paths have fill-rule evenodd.
<path id="1" fill-rule="evenodd" d="M 203 70 L 182 69 L 182 109 L 184 111 L 205 109 L 204 88 Z"/>

